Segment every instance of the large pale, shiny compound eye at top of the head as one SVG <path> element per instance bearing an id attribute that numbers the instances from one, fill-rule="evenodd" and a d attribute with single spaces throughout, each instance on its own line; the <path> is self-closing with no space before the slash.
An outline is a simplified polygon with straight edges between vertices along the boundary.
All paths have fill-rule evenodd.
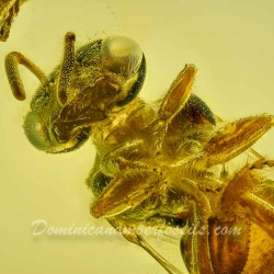
<path id="1" fill-rule="evenodd" d="M 111 36 L 102 43 L 101 58 L 107 70 L 130 77 L 140 67 L 142 52 L 139 45 L 128 37 Z"/>

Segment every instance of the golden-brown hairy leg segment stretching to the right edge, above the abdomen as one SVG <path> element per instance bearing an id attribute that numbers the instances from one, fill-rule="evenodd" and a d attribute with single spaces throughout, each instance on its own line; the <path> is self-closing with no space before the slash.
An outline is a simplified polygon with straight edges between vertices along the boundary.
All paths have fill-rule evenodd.
<path id="1" fill-rule="evenodd" d="M 273 126 L 274 116 L 265 114 L 229 123 L 206 144 L 202 161 L 207 167 L 227 162 L 249 149 Z"/>

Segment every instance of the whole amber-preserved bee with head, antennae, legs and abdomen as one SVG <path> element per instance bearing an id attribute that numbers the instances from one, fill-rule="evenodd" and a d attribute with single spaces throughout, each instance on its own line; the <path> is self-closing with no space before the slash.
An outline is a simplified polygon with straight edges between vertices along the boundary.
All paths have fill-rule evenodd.
<path id="1" fill-rule="evenodd" d="M 186 65 L 158 107 L 138 93 L 146 59 L 138 44 L 110 36 L 80 47 L 65 36 L 64 58 L 46 77 L 20 53 L 5 58 L 13 95 L 25 99 L 18 65 L 41 81 L 24 119 L 31 144 L 49 153 L 68 152 L 89 138 L 96 148 L 87 179 L 91 214 L 148 251 L 169 273 L 182 273 L 136 232 L 147 226 L 199 232 L 180 243 L 190 273 L 274 273 L 273 160 L 251 146 L 274 126 L 262 114 L 225 123 L 195 94 L 197 69 Z M 256 160 L 237 172 L 230 161 L 251 151 Z M 239 233 L 219 233 L 238 229 Z"/>

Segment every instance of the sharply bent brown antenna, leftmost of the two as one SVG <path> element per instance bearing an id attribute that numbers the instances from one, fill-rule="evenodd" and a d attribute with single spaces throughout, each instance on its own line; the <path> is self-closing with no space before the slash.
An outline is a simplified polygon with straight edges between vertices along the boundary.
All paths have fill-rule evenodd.
<path id="1" fill-rule="evenodd" d="M 25 89 L 19 73 L 19 64 L 31 70 L 38 78 L 42 84 L 46 84 L 48 80 L 44 72 L 24 55 L 16 52 L 8 54 L 4 60 L 5 73 L 14 98 L 23 101 L 25 100 Z"/>

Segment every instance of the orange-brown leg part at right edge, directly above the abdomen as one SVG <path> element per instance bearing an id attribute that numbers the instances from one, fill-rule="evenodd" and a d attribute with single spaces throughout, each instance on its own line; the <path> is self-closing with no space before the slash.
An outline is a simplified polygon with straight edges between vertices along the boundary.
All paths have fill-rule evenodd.
<path id="1" fill-rule="evenodd" d="M 267 187 L 273 192 L 274 184 L 270 186 L 267 180 L 258 172 L 263 167 L 273 168 L 274 160 L 260 159 L 253 164 L 243 167 L 228 184 L 222 196 L 222 205 L 231 210 L 241 206 L 247 210 L 251 221 L 274 239 L 274 202 L 264 194 Z"/>

